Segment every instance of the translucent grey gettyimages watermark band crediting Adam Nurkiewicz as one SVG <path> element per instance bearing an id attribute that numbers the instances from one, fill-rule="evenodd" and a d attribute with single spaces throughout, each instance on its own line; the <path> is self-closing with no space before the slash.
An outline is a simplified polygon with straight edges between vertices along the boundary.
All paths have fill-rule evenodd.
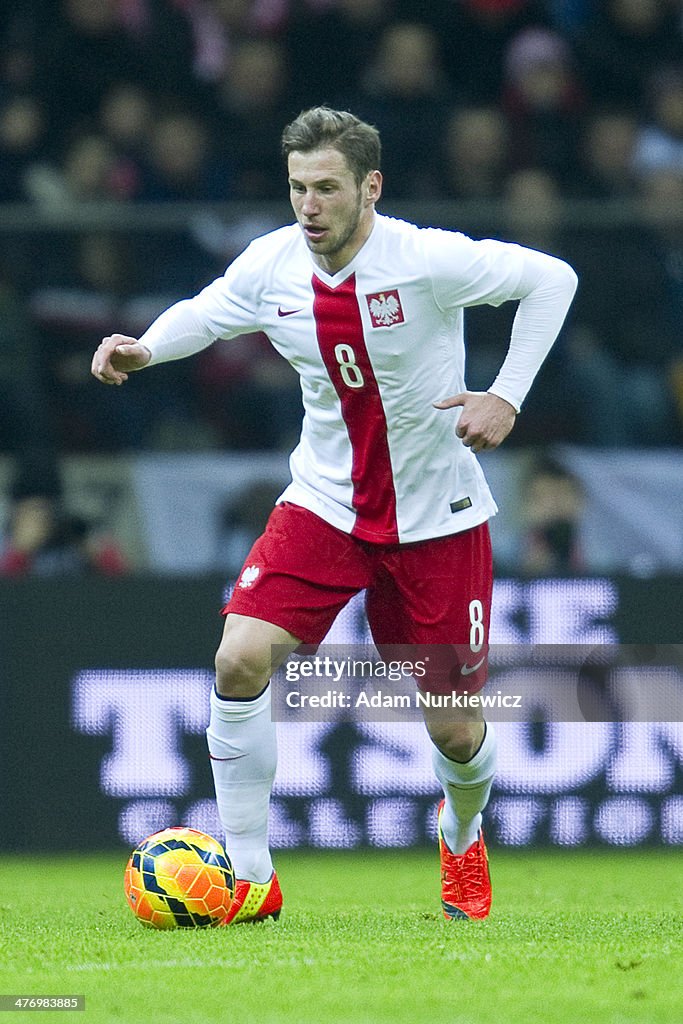
<path id="1" fill-rule="evenodd" d="M 681 644 L 323 644 L 272 658 L 275 721 L 683 721 Z"/>

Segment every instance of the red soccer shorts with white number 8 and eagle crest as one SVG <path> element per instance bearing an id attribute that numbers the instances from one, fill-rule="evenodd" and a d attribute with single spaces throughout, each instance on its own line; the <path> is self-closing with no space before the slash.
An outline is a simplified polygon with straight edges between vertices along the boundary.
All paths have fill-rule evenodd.
<path id="1" fill-rule="evenodd" d="M 298 505 L 278 505 L 222 611 L 262 618 L 304 644 L 318 644 L 361 590 L 383 656 L 392 644 L 457 645 L 467 688 L 483 685 L 493 590 L 485 522 L 430 541 L 382 545 L 351 537 Z"/>

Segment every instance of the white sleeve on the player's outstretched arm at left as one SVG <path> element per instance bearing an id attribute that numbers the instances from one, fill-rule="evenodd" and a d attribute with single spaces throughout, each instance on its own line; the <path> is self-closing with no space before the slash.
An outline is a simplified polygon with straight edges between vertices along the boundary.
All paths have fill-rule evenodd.
<path id="1" fill-rule="evenodd" d="M 258 331 L 259 263 L 252 243 L 221 278 L 158 316 L 139 339 L 152 352 L 147 366 L 193 355 L 218 338 Z"/>

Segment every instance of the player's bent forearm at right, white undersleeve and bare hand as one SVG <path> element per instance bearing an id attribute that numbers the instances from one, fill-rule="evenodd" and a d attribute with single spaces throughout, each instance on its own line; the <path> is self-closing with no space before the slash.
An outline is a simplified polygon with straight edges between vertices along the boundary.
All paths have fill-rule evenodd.
<path id="1" fill-rule="evenodd" d="M 508 296 L 519 305 L 496 380 L 487 391 L 464 391 L 434 402 L 436 409 L 462 408 L 456 433 L 474 452 L 498 447 L 512 430 L 577 291 L 577 274 L 564 260 L 533 249 L 521 252 L 520 280 Z"/>

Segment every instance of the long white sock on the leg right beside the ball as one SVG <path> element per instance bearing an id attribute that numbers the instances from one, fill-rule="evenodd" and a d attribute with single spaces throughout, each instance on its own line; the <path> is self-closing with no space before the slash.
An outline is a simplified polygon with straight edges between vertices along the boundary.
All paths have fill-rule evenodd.
<path id="1" fill-rule="evenodd" d="M 272 873 L 268 804 L 278 762 L 270 686 L 253 700 L 224 699 L 214 689 L 207 740 L 225 850 L 236 878 L 267 882 Z"/>

